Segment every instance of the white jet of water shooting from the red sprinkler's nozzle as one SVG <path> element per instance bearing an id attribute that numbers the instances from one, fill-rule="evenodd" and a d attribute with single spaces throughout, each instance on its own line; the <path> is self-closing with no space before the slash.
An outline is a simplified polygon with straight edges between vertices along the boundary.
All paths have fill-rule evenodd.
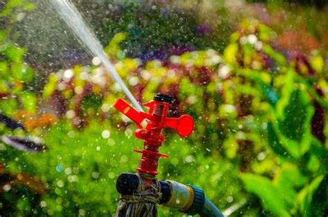
<path id="1" fill-rule="evenodd" d="M 122 81 L 120 75 L 116 72 L 115 68 L 109 62 L 100 42 L 95 37 L 93 32 L 84 22 L 82 15 L 75 8 L 74 4 L 69 0 L 48 0 L 48 2 L 55 8 L 60 17 L 66 22 L 66 24 L 73 30 L 75 35 L 85 44 L 93 53 L 93 55 L 98 56 L 102 61 L 102 64 L 107 68 L 108 73 L 111 78 L 114 79 L 125 92 L 129 100 L 134 104 L 138 111 L 143 111 L 142 107 L 134 96 L 131 94 L 125 83 Z"/>

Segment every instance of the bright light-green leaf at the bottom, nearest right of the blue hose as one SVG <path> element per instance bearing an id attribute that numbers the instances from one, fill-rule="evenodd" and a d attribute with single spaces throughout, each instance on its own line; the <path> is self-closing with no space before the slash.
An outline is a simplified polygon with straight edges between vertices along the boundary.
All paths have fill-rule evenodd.
<path id="1" fill-rule="evenodd" d="M 266 209 L 273 211 L 277 216 L 291 216 L 288 211 L 289 207 L 280 194 L 280 189 L 275 187 L 271 180 L 250 173 L 244 173 L 241 176 L 248 191 L 261 198 Z"/>

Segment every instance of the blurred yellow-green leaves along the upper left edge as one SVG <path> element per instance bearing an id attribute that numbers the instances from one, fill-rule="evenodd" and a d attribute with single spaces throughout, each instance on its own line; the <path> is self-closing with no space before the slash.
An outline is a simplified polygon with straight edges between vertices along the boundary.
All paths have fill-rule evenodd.
<path id="1" fill-rule="evenodd" d="M 13 44 L 9 38 L 15 35 L 12 26 L 19 21 L 19 14 L 25 10 L 33 10 L 34 4 L 27 1 L 10 0 L 0 12 L 0 17 L 6 23 L 0 30 L 0 110 L 13 115 L 17 109 L 26 109 L 35 113 L 36 97 L 33 91 L 33 68 L 24 62 L 26 50 Z"/>

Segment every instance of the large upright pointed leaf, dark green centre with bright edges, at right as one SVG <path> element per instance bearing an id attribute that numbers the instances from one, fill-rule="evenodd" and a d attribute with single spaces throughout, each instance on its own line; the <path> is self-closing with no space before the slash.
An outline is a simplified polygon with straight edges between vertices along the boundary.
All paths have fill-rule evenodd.
<path id="1" fill-rule="evenodd" d="M 300 158 L 311 145 L 311 118 L 314 113 L 311 99 L 302 86 L 295 85 L 295 72 L 286 74 L 282 97 L 277 102 L 273 129 L 280 143 L 293 156 Z"/>

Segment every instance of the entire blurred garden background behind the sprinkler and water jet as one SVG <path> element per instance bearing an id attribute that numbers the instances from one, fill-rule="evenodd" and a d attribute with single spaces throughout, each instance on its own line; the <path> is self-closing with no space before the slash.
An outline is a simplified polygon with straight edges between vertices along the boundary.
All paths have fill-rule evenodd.
<path id="1" fill-rule="evenodd" d="M 328 215 L 325 0 L 72 2 L 140 104 L 194 117 L 165 130 L 159 179 L 227 216 Z M 143 148 L 119 97 L 49 1 L 0 1 L 0 215 L 114 214 Z"/>

